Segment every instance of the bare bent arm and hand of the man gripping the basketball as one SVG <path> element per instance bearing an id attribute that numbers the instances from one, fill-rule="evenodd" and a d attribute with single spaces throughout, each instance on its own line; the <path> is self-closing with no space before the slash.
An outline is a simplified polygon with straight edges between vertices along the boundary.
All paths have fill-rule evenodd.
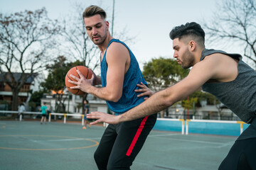
<path id="1" fill-rule="evenodd" d="M 129 52 L 124 45 L 116 43 L 110 45 L 107 50 L 107 85 L 102 88 L 92 86 L 93 80 L 87 80 L 81 77 L 81 79 L 74 78 L 78 82 L 70 81 L 77 86 L 72 89 L 81 89 L 88 94 L 97 96 L 105 101 L 117 102 L 122 96 L 122 86 L 124 82 L 125 74 L 125 64 L 127 63 L 127 58 L 129 57 Z M 77 71 L 79 74 L 79 71 Z M 94 77 L 94 76 L 93 76 Z"/>

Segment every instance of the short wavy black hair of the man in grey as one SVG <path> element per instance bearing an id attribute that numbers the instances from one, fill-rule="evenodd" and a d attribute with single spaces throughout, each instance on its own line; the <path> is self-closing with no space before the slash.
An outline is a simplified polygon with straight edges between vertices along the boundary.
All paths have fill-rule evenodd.
<path id="1" fill-rule="evenodd" d="M 194 38 L 198 38 L 198 42 L 201 42 L 204 45 L 205 42 L 205 32 L 203 28 L 198 23 L 186 23 L 185 25 L 176 26 L 170 32 L 171 40 L 178 38 L 180 40 L 183 36 L 193 36 Z"/>

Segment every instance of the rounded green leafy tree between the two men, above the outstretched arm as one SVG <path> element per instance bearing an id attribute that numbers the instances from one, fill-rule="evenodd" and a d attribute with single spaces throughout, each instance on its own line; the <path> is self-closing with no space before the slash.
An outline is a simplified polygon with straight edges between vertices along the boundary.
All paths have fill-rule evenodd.
<path id="1" fill-rule="evenodd" d="M 144 64 L 143 75 L 153 89 L 164 89 L 188 75 L 189 70 L 183 69 L 175 60 L 152 59 Z"/>

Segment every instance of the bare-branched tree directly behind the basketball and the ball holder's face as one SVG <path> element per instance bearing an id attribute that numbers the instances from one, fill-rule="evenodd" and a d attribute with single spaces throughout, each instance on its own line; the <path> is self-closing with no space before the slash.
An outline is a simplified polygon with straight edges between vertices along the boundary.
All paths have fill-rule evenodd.
<path id="1" fill-rule="evenodd" d="M 95 71 L 100 65 L 100 52 L 86 34 L 82 12 L 82 5 L 76 4 L 73 16 L 69 17 L 68 22 L 63 20 L 61 35 L 65 41 L 64 51 L 66 55 L 70 56 L 70 59 L 80 61 L 80 65 Z M 70 60 L 70 62 L 73 61 Z M 84 101 L 86 98 L 87 94 L 82 96 L 82 113 L 85 112 Z"/>

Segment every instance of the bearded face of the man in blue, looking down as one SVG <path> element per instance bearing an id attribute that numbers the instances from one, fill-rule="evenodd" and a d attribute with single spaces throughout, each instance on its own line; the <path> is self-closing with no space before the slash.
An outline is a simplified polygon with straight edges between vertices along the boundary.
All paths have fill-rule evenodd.
<path id="1" fill-rule="evenodd" d="M 102 19 L 99 14 L 84 18 L 87 35 L 95 45 L 101 45 L 106 37 L 109 23 Z"/>

